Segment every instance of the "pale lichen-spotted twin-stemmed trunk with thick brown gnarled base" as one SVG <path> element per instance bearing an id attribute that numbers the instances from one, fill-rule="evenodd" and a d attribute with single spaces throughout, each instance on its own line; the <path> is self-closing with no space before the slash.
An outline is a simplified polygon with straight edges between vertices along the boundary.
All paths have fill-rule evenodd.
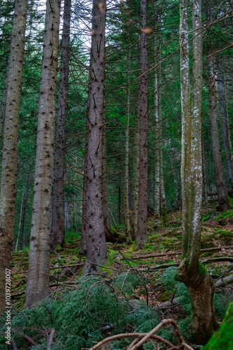
<path id="1" fill-rule="evenodd" d="M 213 332 L 213 281 L 200 265 L 202 209 L 202 28 L 201 0 L 193 1 L 193 108 L 190 108 L 188 1 L 181 0 L 181 106 L 183 260 L 177 279 L 186 284 L 192 303 L 193 333 L 205 344 Z M 189 201 L 189 202 L 188 202 Z"/>

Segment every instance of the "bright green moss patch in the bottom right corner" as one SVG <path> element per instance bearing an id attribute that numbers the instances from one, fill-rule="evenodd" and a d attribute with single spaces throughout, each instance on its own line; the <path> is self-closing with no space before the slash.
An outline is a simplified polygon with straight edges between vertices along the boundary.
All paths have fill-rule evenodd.
<path id="1" fill-rule="evenodd" d="M 223 324 L 218 332 L 214 332 L 203 350 L 232 350 L 233 349 L 233 302 L 228 306 Z"/>

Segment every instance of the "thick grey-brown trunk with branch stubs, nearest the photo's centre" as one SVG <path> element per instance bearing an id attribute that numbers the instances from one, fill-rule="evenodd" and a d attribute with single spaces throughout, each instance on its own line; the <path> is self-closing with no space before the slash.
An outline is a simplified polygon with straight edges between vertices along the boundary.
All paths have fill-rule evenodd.
<path id="1" fill-rule="evenodd" d="M 87 261 L 84 273 L 95 273 L 107 260 L 102 207 L 102 139 L 105 78 L 106 3 L 93 0 L 91 29 L 91 67 L 88 111 L 87 151 Z"/>

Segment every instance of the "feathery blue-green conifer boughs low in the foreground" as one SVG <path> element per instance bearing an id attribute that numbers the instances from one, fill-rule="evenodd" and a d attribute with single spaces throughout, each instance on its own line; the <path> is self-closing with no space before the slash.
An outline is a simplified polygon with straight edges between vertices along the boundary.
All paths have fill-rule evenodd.
<path id="1" fill-rule="evenodd" d="M 112 284 L 99 276 L 82 277 L 77 281 L 77 289 L 63 295 L 61 300 L 46 300 L 13 315 L 11 329 L 17 349 L 24 348 L 27 342 L 22 333 L 36 337 L 40 349 L 46 349 L 46 332 L 51 328 L 56 334 L 52 349 L 64 350 L 91 347 L 93 342 L 103 339 L 106 326 L 108 335 L 125 332 L 128 326 L 137 331 L 151 330 L 159 322 L 155 311 L 142 303 L 140 310 L 132 312 L 127 297 L 118 297 L 132 295 L 143 284 L 143 279 L 132 273 L 117 276 Z M 4 320 L 0 325 L 0 349 L 7 349 L 3 325 Z M 117 342 L 119 347 L 114 344 L 112 349 L 123 349 L 125 342 Z"/>

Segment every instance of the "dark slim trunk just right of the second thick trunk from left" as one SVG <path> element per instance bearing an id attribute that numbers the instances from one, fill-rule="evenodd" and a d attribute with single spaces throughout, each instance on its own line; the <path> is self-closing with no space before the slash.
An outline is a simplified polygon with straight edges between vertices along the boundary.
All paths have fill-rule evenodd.
<path id="1" fill-rule="evenodd" d="M 65 239 L 64 179 L 66 153 L 66 110 L 68 73 L 70 60 L 70 10 L 71 0 L 65 0 L 63 8 L 63 32 L 61 38 L 61 71 L 57 109 L 57 133 L 54 153 L 54 184 L 52 192 L 51 248 L 63 244 Z"/>

